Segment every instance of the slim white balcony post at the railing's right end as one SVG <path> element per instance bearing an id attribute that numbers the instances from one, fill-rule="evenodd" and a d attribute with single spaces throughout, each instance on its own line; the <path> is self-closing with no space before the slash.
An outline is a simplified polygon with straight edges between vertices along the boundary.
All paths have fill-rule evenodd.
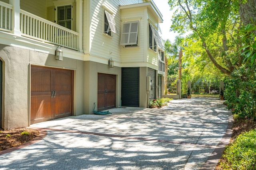
<path id="1" fill-rule="evenodd" d="M 83 0 L 76 0 L 76 32 L 79 33 L 78 51 L 83 52 Z"/>

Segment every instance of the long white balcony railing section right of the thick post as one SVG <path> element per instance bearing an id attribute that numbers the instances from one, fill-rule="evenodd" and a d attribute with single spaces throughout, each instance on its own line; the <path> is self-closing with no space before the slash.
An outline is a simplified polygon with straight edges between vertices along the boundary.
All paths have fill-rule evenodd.
<path id="1" fill-rule="evenodd" d="M 22 36 L 78 50 L 79 33 L 20 10 Z"/>

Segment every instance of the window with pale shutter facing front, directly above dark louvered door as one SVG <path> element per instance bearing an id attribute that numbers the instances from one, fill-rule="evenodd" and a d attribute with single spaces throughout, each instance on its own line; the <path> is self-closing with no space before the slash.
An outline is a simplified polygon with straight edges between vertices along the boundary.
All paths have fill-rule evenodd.
<path id="1" fill-rule="evenodd" d="M 139 21 L 124 22 L 121 45 L 125 47 L 138 47 Z"/>

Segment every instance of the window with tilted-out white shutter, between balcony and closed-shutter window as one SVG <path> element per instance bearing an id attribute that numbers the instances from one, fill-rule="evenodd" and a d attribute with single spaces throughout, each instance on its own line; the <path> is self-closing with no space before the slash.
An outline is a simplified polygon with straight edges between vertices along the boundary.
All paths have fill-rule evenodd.
<path id="1" fill-rule="evenodd" d="M 116 33 L 116 22 L 114 20 L 114 16 L 105 11 L 104 16 L 104 33 L 111 36 L 111 31 Z"/>

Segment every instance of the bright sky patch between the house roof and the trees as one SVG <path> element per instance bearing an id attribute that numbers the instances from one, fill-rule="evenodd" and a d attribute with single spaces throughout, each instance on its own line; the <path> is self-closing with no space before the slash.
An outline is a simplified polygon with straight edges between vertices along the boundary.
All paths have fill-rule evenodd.
<path id="1" fill-rule="evenodd" d="M 154 3 L 156 4 L 158 10 L 161 12 L 163 16 L 163 23 L 160 23 L 160 28 L 162 31 L 162 39 L 170 39 L 171 42 L 174 41 L 174 38 L 178 33 L 170 32 L 170 27 L 172 24 L 171 18 L 172 18 L 172 12 L 170 11 L 170 6 L 168 4 L 168 0 L 154 0 Z"/>

